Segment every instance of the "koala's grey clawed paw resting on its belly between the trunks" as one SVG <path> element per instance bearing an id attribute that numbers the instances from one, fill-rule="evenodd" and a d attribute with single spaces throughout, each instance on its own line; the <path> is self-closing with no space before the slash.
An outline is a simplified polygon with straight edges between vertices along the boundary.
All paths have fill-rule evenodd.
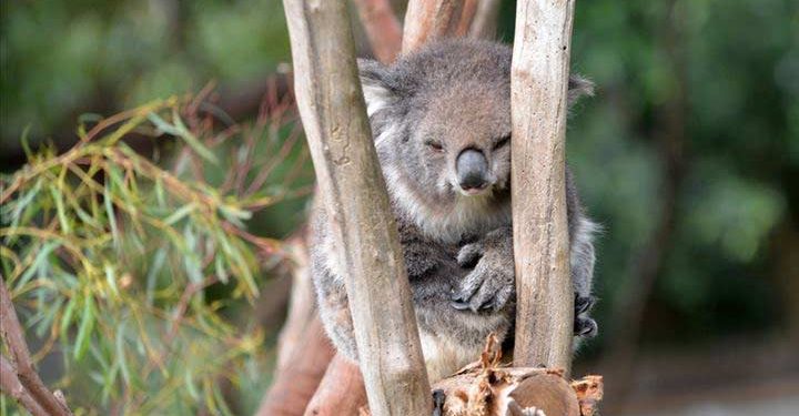
<path id="1" fill-rule="evenodd" d="M 487 248 L 482 243 L 473 243 L 461 248 L 457 261 L 461 266 L 474 270 L 453 294 L 454 308 L 496 312 L 512 298 L 516 290 L 513 258 L 505 258 L 500 252 Z"/>

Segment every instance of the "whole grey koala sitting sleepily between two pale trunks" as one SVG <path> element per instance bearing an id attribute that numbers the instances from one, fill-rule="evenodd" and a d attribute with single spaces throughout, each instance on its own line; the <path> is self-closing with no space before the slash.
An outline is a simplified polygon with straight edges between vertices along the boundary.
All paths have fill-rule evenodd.
<path id="1" fill-rule="evenodd" d="M 488 334 L 513 335 L 510 58 L 503 44 L 449 40 L 391 67 L 358 62 L 433 381 L 476 359 Z M 569 101 L 590 89 L 572 78 Z M 597 331 L 586 315 L 595 225 L 566 177 L 575 335 L 589 336 Z M 356 361 L 346 271 L 332 244 L 316 204 L 311 264 L 320 315 L 337 349 Z"/>

